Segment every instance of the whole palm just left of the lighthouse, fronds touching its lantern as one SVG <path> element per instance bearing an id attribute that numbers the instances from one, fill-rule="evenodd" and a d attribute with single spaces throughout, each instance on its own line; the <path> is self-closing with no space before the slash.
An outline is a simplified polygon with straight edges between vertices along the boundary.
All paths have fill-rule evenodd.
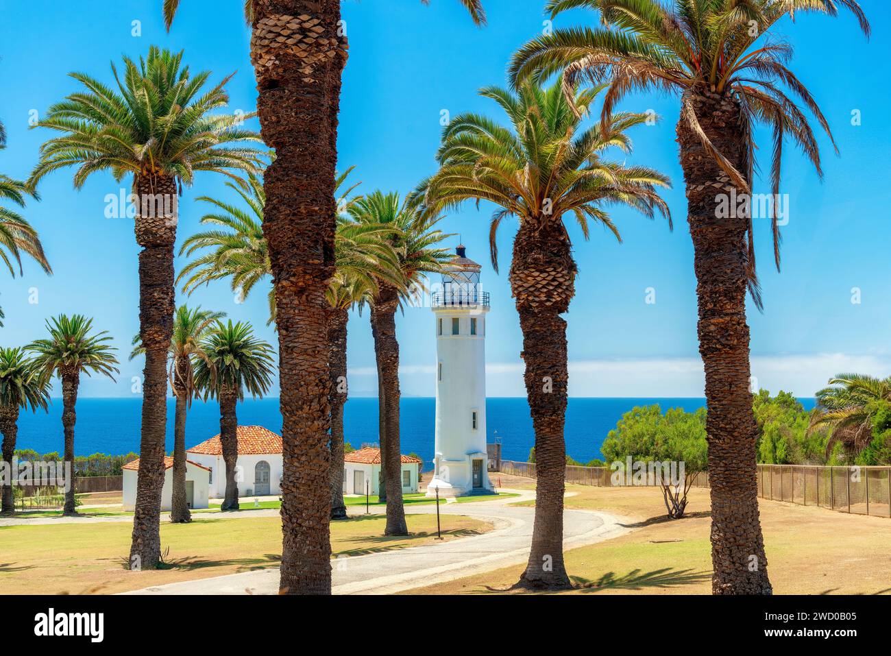
<path id="1" fill-rule="evenodd" d="M 380 469 L 387 496 L 388 536 L 408 535 L 402 503 L 402 464 L 399 445 L 399 341 L 396 340 L 396 309 L 425 273 L 442 270 L 448 259 L 437 248 L 447 234 L 434 229 L 439 217 L 425 217 L 418 204 L 402 201 L 398 193 L 380 191 L 366 196 L 349 209 L 360 225 L 388 225 L 395 228 L 390 244 L 398 256 L 401 280 L 378 283 L 371 299 L 374 355 L 378 365 L 378 408 L 380 417 Z"/>

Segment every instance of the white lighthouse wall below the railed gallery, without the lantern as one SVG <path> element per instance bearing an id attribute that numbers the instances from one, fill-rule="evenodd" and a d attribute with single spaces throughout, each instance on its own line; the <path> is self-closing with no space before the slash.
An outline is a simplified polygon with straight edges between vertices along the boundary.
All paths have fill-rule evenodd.
<path id="1" fill-rule="evenodd" d="M 482 460 L 481 488 L 492 488 L 486 471 L 487 311 L 487 307 L 434 308 L 437 332 L 436 471 L 428 490 L 438 487 L 440 496 L 457 496 L 473 490 L 473 460 Z M 452 334 L 454 318 L 459 323 L 457 335 Z M 477 320 L 476 335 L 470 334 L 471 318 Z M 477 413 L 475 429 L 474 412 Z"/>

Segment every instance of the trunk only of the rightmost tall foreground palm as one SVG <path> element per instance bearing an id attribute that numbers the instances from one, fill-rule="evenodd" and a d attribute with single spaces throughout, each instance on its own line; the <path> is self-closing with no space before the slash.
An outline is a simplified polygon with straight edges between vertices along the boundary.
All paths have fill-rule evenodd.
<path id="1" fill-rule="evenodd" d="M 718 151 L 747 175 L 739 106 L 717 94 L 690 100 Z M 749 389 L 748 217 L 718 217 L 716 195 L 731 193 L 729 177 L 683 122 L 677 136 L 698 282 L 699 354 L 706 371 L 712 592 L 771 594 L 758 516 L 757 425 Z"/>

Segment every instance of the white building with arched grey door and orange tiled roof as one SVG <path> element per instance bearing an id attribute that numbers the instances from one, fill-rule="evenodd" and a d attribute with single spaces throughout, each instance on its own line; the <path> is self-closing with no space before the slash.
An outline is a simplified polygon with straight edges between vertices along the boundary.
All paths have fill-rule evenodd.
<path id="1" fill-rule="evenodd" d="M 239 426 L 235 482 L 238 496 L 282 494 L 282 436 L 263 426 Z M 223 443 L 217 435 L 186 449 L 189 459 L 210 470 L 210 497 L 225 497 Z"/>

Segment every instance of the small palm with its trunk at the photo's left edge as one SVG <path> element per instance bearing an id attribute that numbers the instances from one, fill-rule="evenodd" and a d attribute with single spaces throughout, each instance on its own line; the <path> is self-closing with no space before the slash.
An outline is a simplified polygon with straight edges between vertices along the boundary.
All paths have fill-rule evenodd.
<path id="1" fill-rule="evenodd" d="M 0 512 L 15 512 L 12 501 L 12 455 L 15 453 L 15 437 L 19 431 L 19 411 L 21 408 L 46 410 L 50 398 L 49 379 L 42 375 L 34 360 L 25 355 L 23 348 L 0 347 L 0 433 L 3 433 L 4 466 L 12 474 L 3 481 L 3 502 Z M 71 488 L 74 481 L 68 480 Z"/>

